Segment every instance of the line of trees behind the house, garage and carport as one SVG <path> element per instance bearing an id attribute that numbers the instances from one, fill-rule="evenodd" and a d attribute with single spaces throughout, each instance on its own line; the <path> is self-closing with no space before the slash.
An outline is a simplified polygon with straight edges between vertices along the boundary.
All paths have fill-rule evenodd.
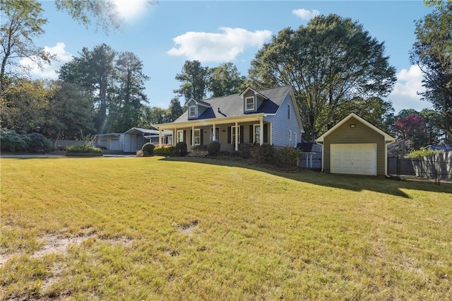
<path id="1" fill-rule="evenodd" d="M 96 3 L 89 6 L 89 3 Z M 83 24 L 88 16 L 107 30 L 117 28 L 110 18 L 109 0 L 56 1 Z M 394 114 L 383 100 L 396 83 L 396 69 L 384 54 L 384 43 L 371 37 L 361 24 L 335 14 L 316 16 L 297 29 L 284 28 L 258 50 L 247 76 L 232 62 L 209 68 L 185 61 L 175 78 L 179 88 L 167 109 L 150 107 L 143 63 L 133 52 L 117 52 L 102 44 L 83 47 L 59 70 L 57 81 L 33 81 L 20 72 L 18 59 L 40 64 L 52 56 L 35 47 L 47 20 L 36 1 L 0 1 L 1 127 L 36 131 L 52 139 L 76 138 L 86 133 L 123 132 L 133 126 L 151 127 L 172 122 L 184 102 L 239 93 L 247 85 L 269 88 L 291 85 L 304 125 L 304 139 L 314 141 L 350 112 L 404 141 L 405 148 L 451 143 L 452 137 L 452 4 L 426 1 L 434 11 L 415 23 L 417 40 L 410 52 L 412 64 L 422 69 L 426 88 L 420 97 L 433 110 L 403 110 Z M 94 10 L 94 11 L 90 11 Z"/>

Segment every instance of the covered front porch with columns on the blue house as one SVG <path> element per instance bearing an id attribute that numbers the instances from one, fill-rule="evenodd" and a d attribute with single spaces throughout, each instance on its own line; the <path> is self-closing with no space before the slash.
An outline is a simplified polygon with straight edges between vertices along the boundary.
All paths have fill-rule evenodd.
<path id="1" fill-rule="evenodd" d="M 172 131 L 173 143 L 185 142 L 188 151 L 198 146 L 208 146 L 212 141 L 221 144 L 221 151 L 239 151 L 240 145 L 271 143 L 272 126 L 265 122 L 263 114 L 239 119 L 208 119 L 172 124 L 158 124 L 159 144 L 163 144 L 162 131 Z"/>

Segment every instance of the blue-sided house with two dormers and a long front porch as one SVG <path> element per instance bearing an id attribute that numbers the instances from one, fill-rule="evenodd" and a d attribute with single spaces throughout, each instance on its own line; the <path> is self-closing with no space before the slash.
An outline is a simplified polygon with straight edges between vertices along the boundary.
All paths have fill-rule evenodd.
<path id="1" fill-rule="evenodd" d="M 190 151 L 219 141 L 221 151 L 239 151 L 239 146 L 297 146 L 304 132 L 292 87 L 255 90 L 219 98 L 190 98 L 186 112 L 174 122 L 156 124 L 162 131 L 172 131 L 174 145 L 180 141 Z"/>

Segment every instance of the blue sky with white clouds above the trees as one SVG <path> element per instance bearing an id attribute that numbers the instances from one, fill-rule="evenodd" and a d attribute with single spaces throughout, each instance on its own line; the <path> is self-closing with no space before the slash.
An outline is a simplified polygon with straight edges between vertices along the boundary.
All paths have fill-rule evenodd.
<path id="1" fill-rule="evenodd" d="M 136 54 L 150 76 L 146 94 L 150 106 L 167 108 L 180 83 L 174 79 L 184 61 L 197 59 L 203 66 L 232 61 L 246 76 L 251 60 L 264 42 L 283 28 L 306 25 L 316 14 L 352 18 L 386 46 L 398 82 L 388 100 L 396 113 L 402 109 L 431 107 L 420 101 L 422 74 L 411 66 L 415 20 L 431 10 L 422 1 L 160 1 L 148 8 L 143 0 L 117 1 L 124 25 L 106 35 L 95 27 L 72 20 L 57 11 L 54 1 L 42 1 L 48 19 L 45 34 L 35 44 L 57 55 L 58 61 L 39 70 L 29 61 L 35 77 L 56 78 L 55 69 L 78 55 L 82 47 L 105 43 L 118 52 Z M 184 99 L 180 99 L 184 103 Z"/>

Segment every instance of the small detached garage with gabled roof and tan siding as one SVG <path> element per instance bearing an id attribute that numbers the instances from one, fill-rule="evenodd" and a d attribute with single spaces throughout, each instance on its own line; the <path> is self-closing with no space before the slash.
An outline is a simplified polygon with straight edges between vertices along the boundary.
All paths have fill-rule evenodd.
<path id="1" fill-rule="evenodd" d="M 395 138 L 350 113 L 316 139 L 322 144 L 322 170 L 351 175 L 388 175 L 388 144 Z"/>

